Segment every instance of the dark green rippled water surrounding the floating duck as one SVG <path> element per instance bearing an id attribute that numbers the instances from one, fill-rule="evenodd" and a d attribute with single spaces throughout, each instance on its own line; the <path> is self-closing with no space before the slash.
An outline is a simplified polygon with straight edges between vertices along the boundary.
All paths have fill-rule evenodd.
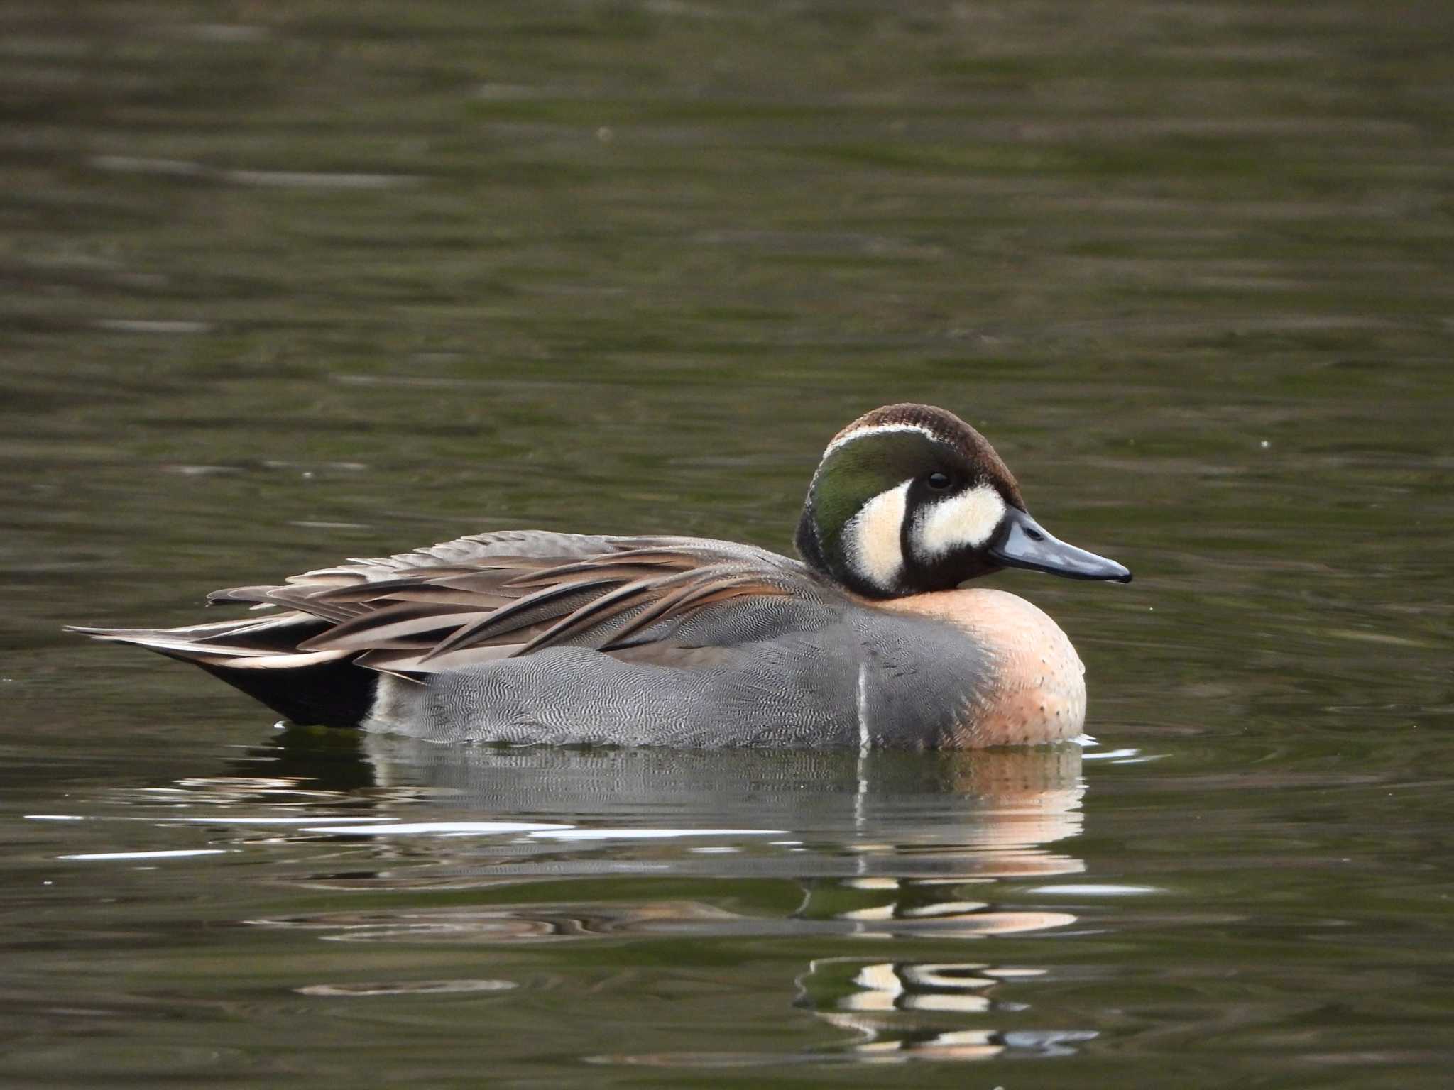
<path id="1" fill-rule="evenodd" d="M 1448 1086 L 1451 57 L 1445 3 L 0 3 L 0 1083 Z M 1099 746 L 420 750 L 58 631 L 480 529 L 787 549 L 897 400 L 1136 570 L 993 580 Z"/>

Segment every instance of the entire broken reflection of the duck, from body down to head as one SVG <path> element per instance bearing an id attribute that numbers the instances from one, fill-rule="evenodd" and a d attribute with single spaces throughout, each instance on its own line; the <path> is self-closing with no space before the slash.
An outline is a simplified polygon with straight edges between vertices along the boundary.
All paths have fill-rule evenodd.
<path id="1" fill-rule="evenodd" d="M 682 753 L 461 748 L 385 735 L 364 735 L 358 746 L 371 780 L 362 795 L 381 817 L 398 817 L 407 828 L 468 830 L 464 818 L 473 818 L 481 830 L 509 820 L 522 828 L 538 823 L 538 831 L 503 843 L 448 834 L 422 841 L 377 836 L 388 831 L 382 825 L 320 821 L 297 837 L 364 847 L 372 866 L 316 871 L 307 885 L 448 885 L 478 895 L 467 905 L 426 901 L 260 923 L 349 942 L 427 936 L 516 948 L 599 936 L 822 940 L 823 956 L 795 977 L 791 1001 L 852 1036 L 811 1055 L 980 1059 L 1054 1054 L 1088 1036 L 1016 1030 L 1025 1004 L 997 996 L 1022 997 L 1043 971 L 958 956 L 964 940 L 1075 923 L 1069 913 L 1006 904 L 1012 898 L 1002 889 L 1005 879 L 1083 871 L 1066 852 L 1082 830 L 1079 747 Z M 307 775 L 320 753 L 305 735 L 285 735 L 266 756 L 285 778 L 321 779 Z M 327 760 L 337 757 L 332 751 Z M 353 799 L 358 779 L 356 772 L 342 776 Z M 420 811 L 439 821 L 430 825 Z M 593 882 L 582 897 L 585 888 L 570 879 L 585 875 L 631 881 Z M 694 876 L 702 879 L 699 895 L 682 887 Z M 885 945 L 878 956 L 858 953 L 842 942 L 853 939 L 913 940 L 915 950 L 931 953 L 894 956 L 904 943 Z M 688 1054 L 595 1059 L 692 1062 Z"/>

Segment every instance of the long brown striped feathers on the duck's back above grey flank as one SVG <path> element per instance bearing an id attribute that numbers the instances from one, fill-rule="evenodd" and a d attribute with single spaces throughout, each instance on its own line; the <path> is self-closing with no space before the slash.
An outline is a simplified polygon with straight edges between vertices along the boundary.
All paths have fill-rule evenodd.
<path id="1" fill-rule="evenodd" d="M 298 650 L 356 653 L 359 666 L 409 676 L 560 645 L 641 654 L 666 641 L 666 651 L 676 625 L 702 609 L 803 590 L 794 561 L 728 542 L 538 541 L 566 548 L 494 554 L 535 542 L 481 535 L 294 576 L 284 586 L 220 590 L 209 600 L 278 605 L 332 622 Z M 582 555 L 577 541 L 603 551 Z M 483 542 L 474 548 L 481 555 L 470 555 L 471 542 Z"/>

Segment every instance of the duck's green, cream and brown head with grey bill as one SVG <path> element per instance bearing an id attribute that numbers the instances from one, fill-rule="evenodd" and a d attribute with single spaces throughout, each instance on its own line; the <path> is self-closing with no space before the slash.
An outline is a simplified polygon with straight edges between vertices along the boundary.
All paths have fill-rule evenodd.
<path id="1" fill-rule="evenodd" d="M 797 544 L 813 568 L 868 597 L 948 590 L 1000 568 L 1131 581 L 1114 560 L 1047 533 L 984 436 L 932 405 L 875 408 L 833 436 Z"/>

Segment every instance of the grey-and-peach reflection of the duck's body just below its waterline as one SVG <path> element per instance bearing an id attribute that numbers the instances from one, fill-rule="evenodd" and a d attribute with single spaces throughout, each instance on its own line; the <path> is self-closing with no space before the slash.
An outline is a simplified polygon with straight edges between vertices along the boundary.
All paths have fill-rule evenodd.
<path id="1" fill-rule="evenodd" d="M 855 754 L 816 750 L 454 747 L 366 734 L 377 788 L 471 812 L 641 824 L 772 825 L 871 868 L 907 850 L 973 850 L 997 875 L 1079 871 L 1045 844 L 1080 831 L 1080 747 Z M 1022 871 L 1016 871 L 1022 868 Z"/>

